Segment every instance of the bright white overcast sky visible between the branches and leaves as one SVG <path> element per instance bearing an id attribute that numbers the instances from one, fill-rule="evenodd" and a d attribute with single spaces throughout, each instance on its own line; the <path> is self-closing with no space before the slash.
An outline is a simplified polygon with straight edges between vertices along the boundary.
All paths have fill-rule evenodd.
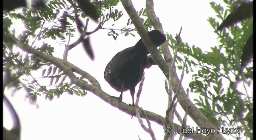
<path id="1" fill-rule="evenodd" d="M 208 17 L 216 15 L 209 2 L 208 0 L 155 0 L 154 9 L 160 18 L 164 32 L 175 36 L 182 26 L 181 37 L 184 42 L 188 42 L 190 45 L 195 44 L 202 50 L 209 50 L 210 47 L 218 46 L 214 30 L 207 21 Z M 220 0 L 216 0 L 216 3 L 218 2 Z M 145 8 L 145 0 L 143 2 L 142 0 L 133 0 L 133 3 L 136 10 Z M 119 5 L 122 8 L 121 2 Z M 118 10 L 121 10 L 120 8 Z M 122 10 L 127 16 L 124 8 Z M 126 25 L 125 15 L 115 23 L 114 28 L 122 28 Z M 94 22 L 89 22 L 91 30 L 95 26 Z M 108 27 L 110 26 L 104 26 L 104 28 Z M 77 46 L 69 52 L 68 61 L 94 76 L 105 92 L 118 97 L 120 92 L 111 88 L 104 80 L 105 67 L 117 52 L 134 46 L 140 37 L 137 34 L 136 37 L 120 35 L 117 40 L 114 40 L 107 36 L 108 31 L 100 30 L 90 36 L 95 54 L 94 61 L 85 54 L 82 46 Z M 55 47 L 56 50 L 64 48 L 63 46 Z M 54 52 L 53 55 L 62 58 L 61 52 Z M 180 75 L 180 72 L 178 74 Z M 40 76 L 39 72 L 36 77 Z M 139 106 L 144 110 L 165 116 L 168 103 L 164 89 L 165 79 L 158 66 L 152 66 L 145 70 L 145 81 Z M 189 75 L 184 75 L 182 85 L 185 90 L 191 80 Z M 138 87 L 136 90 L 138 91 Z M 24 97 L 25 92 L 18 92 L 12 97 L 10 94 L 6 94 L 6 96 L 20 117 L 22 140 L 138 140 L 138 136 L 142 140 L 151 139 L 150 135 L 140 127 L 136 117 L 131 119 L 130 115 L 112 107 L 90 92 L 84 97 L 64 93 L 60 98 L 54 97 L 52 101 L 45 100 L 44 96 L 39 96 L 38 108 L 29 104 Z M 127 104 L 132 103 L 130 91 L 124 92 L 123 101 Z M 183 114 L 184 112 L 180 112 L 181 116 Z M 176 121 L 176 123 L 178 122 Z M 12 121 L 8 110 L 4 107 L 4 127 L 10 129 L 11 126 Z M 152 129 L 157 140 L 163 139 L 162 126 L 152 122 Z"/>

